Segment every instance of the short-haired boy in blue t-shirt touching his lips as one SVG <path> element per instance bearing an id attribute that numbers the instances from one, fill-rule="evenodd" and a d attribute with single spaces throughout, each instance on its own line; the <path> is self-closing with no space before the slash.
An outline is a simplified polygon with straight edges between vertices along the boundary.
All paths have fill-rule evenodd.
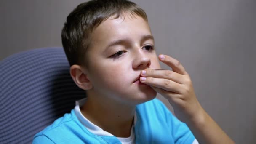
<path id="1" fill-rule="evenodd" d="M 135 3 L 82 3 L 67 17 L 61 38 L 70 75 L 87 98 L 33 143 L 233 143 L 200 106 L 179 61 L 157 57 L 147 15 Z M 160 69 L 158 59 L 173 71 Z M 157 92 L 184 123 L 155 99 Z"/>

